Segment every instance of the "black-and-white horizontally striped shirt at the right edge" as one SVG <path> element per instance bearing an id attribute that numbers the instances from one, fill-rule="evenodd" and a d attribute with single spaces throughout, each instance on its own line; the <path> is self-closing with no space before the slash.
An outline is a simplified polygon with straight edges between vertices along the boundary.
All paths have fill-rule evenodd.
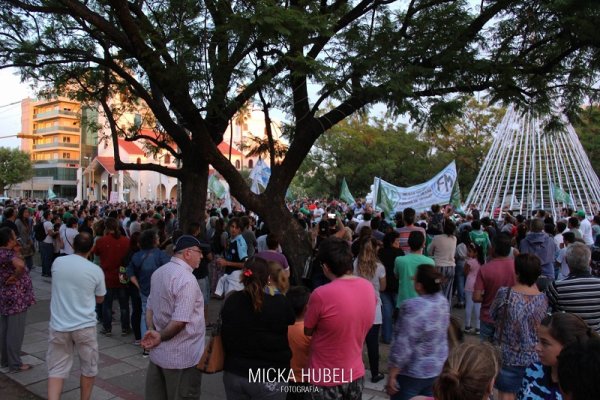
<path id="1" fill-rule="evenodd" d="M 600 278 L 571 274 L 565 280 L 552 282 L 546 294 L 553 311 L 578 315 L 600 333 Z"/>

